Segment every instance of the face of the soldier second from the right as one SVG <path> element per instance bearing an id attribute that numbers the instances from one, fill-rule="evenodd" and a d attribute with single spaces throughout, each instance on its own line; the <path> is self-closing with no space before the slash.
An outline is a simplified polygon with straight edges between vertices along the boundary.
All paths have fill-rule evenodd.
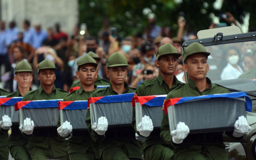
<path id="1" fill-rule="evenodd" d="M 160 73 L 172 75 L 176 70 L 178 60 L 174 55 L 167 54 L 160 57 L 159 60 L 156 60 L 155 64 L 157 67 L 159 67 Z"/>

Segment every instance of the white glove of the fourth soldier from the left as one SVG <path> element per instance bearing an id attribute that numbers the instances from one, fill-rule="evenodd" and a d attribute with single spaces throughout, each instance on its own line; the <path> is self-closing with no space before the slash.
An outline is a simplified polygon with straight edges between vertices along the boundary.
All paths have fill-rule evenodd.
<path id="1" fill-rule="evenodd" d="M 106 119 L 106 117 L 100 117 L 98 119 L 98 125 L 95 122 L 91 128 L 93 128 L 93 130 L 97 134 L 104 135 L 105 132 L 108 130 L 108 120 Z"/>

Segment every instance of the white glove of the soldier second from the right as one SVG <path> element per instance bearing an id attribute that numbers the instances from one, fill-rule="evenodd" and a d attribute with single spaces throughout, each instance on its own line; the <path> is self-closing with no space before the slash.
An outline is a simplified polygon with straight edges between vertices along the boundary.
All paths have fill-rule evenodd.
<path id="1" fill-rule="evenodd" d="M 152 119 L 146 115 L 142 117 L 142 121 L 137 126 L 137 131 L 139 131 L 142 136 L 148 137 L 153 129 Z"/>

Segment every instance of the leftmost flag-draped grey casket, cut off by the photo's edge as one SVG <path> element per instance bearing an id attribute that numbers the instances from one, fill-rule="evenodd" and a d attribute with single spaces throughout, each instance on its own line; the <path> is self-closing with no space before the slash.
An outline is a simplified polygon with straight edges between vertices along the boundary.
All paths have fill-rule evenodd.
<path id="1" fill-rule="evenodd" d="M 19 112 L 15 112 L 14 104 L 21 100 L 22 97 L 0 98 L 0 121 L 2 121 L 3 115 L 8 115 L 13 124 L 18 124 Z"/>

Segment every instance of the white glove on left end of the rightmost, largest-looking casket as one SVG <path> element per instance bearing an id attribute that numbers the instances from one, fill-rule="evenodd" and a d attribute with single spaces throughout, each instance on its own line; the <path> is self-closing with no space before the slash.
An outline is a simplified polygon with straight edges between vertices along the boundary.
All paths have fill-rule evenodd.
<path id="1" fill-rule="evenodd" d="M 184 122 L 179 122 L 179 124 L 177 124 L 177 129 L 171 132 L 172 142 L 176 144 L 182 143 L 183 140 L 187 137 L 188 133 L 189 133 L 188 126 L 185 125 Z"/>

